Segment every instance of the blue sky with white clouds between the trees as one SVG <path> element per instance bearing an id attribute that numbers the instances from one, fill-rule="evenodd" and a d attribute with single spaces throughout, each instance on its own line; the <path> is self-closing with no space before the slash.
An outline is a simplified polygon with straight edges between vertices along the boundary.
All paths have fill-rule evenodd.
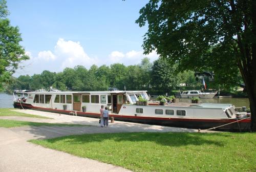
<path id="1" fill-rule="evenodd" d="M 138 65 L 153 62 L 156 52 L 143 55 L 147 27 L 135 24 L 144 0 L 7 0 L 12 26 L 30 60 L 20 63 L 14 76 L 61 72 L 82 65 Z"/>

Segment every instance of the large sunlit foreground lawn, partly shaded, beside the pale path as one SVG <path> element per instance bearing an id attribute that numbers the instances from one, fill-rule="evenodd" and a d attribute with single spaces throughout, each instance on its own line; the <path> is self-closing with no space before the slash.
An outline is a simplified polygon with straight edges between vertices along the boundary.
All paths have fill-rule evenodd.
<path id="1" fill-rule="evenodd" d="M 134 171 L 256 171 L 255 133 L 115 133 L 30 140 Z"/>

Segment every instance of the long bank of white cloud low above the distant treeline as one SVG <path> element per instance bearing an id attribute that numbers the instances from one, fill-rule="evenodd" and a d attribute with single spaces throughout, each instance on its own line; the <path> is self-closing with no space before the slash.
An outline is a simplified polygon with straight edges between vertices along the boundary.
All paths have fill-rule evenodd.
<path id="1" fill-rule="evenodd" d="M 89 56 L 84 51 L 80 42 L 66 41 L 62 38 L 58 39 L 52 51 L 40 51 L 34 57 L 30 51 L 26 51 L 26 55 L 30 57 L 30 60 L 20 63 L 20 66 L 23 66 L 23 68 L 19 68 L 15 76 L 40 74 L 44 70 L 61 72 L 66 67 L 74 68 L 77 65 L 84 66 L 87 69 L 93 64 L 96 64 L 98 67 L 101 65 L 109 66 L 113 63 L 123 63 L 125 66 L 138 65 L 144 57 L 150 58 L 151 62 L 159 58 L 156 51 L 144 55 L 143 51 L 136 50 L 126 53 L 113 51 L 106 55 L 106 58 L 98 58 L 97 56 Z"/>

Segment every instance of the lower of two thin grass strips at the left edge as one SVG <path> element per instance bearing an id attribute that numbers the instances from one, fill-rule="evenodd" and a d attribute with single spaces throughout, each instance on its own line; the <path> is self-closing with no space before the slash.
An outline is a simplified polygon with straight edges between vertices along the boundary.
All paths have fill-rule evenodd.
<path id="1" fill-rule="evenodd" d="M 43 122 L 27 122 L 27 121 L 15 121 L 8 119 L 0 119 L 0 127 L 17 127 L 17 126 L 89 126 L 81 124 L 59 124 L 59 123 L 43 123 Z"/>

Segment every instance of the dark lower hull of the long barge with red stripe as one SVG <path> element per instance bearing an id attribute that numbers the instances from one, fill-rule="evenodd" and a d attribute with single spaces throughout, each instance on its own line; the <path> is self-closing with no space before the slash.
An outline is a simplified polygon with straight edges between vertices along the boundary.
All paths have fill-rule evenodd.
<path id="1" fill-rule="evenodd" d="M 20 103 L 14 102 L 16 107 L 21 107 Z M 28 103 L 22 103 L 24 108 L 27 109 L 34 109 L 39 111 L 46 111 L 46 112 L 54 112 L 60 114 L 68 114 L 73 111 L 68 110 L 60 110 L 60 109 L 50 109 L 46 107 L 38 107 L 33 106 Z M 78 116 L 86 116 L 86 117 L 93 117 L 98 118 L 100 116 L 99 113 L 92 113 L 92 112 L 77 112 Z M 227 124 L 230 122 L 237 121 L 236 119 L 208 119 L 208 118 L 168 118 L 168 117 L 150 117 L 150 116 L 132 116 L 132 115 L 110 115 L 110 117 L 114 117 L 115 120 L 120 121 L 129 121 L 129 122 L 137 122 L 137 123 L 145 123 L 145 124 L 157 124 L 157 125 L 164 125 L 164 126 L 175 126 L 175 127 L 185 127 L 185 128 L 211 128 L 220 126 L 223 124 Z M 249 131 L 251 119 L 245 119 L 243 121 L 239 121 L 239 124 L 233 123 L 226 126 L 223 126 L 223 130 L 238 130 L 240 128 L 247 128 L 246 131 Z"/>

